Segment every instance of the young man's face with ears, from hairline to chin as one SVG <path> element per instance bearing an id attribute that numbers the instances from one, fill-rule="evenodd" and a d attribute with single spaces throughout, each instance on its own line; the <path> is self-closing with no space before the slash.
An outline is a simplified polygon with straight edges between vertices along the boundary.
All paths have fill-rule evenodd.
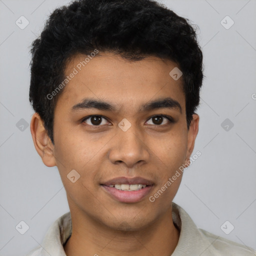
<path id="1" fill-rule="evenodd" d="M 174 62 L 153 56 L 129 62 L 105 52 L 79 70 L 84 58 L 66 67 L 66 75 L 78 72 L 56 103 L 54 145 L 41 140 L 45 146 L 36 149 L 45 165 L 57 166 L 71 214 L 135 230 L 169 214 L 182 172 L 152 196 L 189 159 L 198 115 L 187 130 L 182 77 L 169 75 Z"/>

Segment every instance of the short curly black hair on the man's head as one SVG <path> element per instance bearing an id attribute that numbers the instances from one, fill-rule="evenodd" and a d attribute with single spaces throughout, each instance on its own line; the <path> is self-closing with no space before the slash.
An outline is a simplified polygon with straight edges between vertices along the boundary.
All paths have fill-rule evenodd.
<path id="1" fill-rule="evenodd" d="M 47 95 L 63 81 L 70 57 L 95 49 L 130 61 L 157 56 L 177 63 L 189 128 L 203 79 L 202 51 L 190 21 L 154 0 L 76 0 L 55 9 L 31 45 L 29 101 L 53 144 L 54 107 L 63 89 L 52 99 Z"/>

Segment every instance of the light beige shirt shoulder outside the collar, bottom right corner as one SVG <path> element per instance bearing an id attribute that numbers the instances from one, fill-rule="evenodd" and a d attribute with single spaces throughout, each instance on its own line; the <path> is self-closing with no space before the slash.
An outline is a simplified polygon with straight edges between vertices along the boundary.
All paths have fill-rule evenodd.
<path id="1" fill-rule="evenodd" d="M 211 242 L 211 246 L 218 251 L 219 255 L 225 256 L 255 256 L 256 250 L 243 244 L 217 236 L 206 230 L 198 228 L 199 232 Z"/>

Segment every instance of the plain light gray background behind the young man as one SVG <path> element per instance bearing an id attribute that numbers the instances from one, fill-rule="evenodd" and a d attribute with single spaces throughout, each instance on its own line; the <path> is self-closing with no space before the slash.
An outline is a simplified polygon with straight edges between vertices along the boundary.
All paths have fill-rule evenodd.
<path id="1" fill-rule="evenodd" d="M 24 255 L 69 210 L 57 168 L 42 163 L 29 126 L 16 126 L 21 118 L 30 124 L 33 113 L 29 45 L 50 11 L 67 2 L 0 0 L 0 255 Z M 174 201 L 198 227 L 256 248 L 256 1 L 161 2 L 199 26 L 206 76 L 193 151 L 202 154 Z M 21 15 L 29 21 L 24 29 L 15 24 Z M 229 29 L 220 23 L 226 15 L 234 21 Z M 228 131 L 226 118 L 234 124 Z M 23 235 L 15 229 L 21 220 L 29 225 Z M 229 234 L 220 228 L 226 220 L 234 225 Z"/>

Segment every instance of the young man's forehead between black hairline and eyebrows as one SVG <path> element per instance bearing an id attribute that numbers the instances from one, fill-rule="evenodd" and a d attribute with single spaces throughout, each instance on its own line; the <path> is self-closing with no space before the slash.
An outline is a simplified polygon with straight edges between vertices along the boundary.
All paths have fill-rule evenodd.
<path id="1" fill-rule="evenodd" d="M 171 60 L 150 56 L 138 61 L 128 61 L 111 52 L 95 57 L 77 54 L 67 63 L 66 83 L 57 104 L 72 107 L 85 97 L 107 99 L 112 105 L 138 108 L 142 103 L 171 97 L 185 106 L 182 77 L 174 80 L 169 72 L 177 67 Z M 75 75 L 71 75 L 75 73 Z"/>

